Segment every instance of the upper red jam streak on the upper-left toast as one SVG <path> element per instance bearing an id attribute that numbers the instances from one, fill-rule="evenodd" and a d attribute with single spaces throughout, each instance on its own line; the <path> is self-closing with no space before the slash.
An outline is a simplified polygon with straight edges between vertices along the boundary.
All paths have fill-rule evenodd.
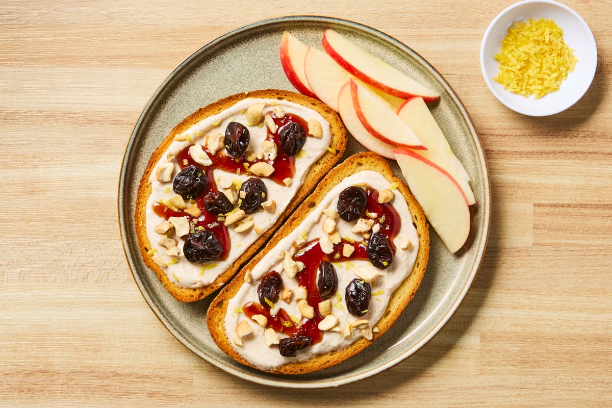
<path id="1" fill-rule="evenodd" d="M 297 122 L 300 126 L 302 126 L 302 128 L 304 128 L 304 132 L 306 132 L 306 134 L 308 135 L 308 124 L 306 123 L 306 121 L 304 121 L 304 119 L 294 114 L 286 113 L 285 116 L 282 118 L 276 117 L 275 114 L 272 112 L 270 112 L 269 114 L 270 116 L 272 116 L 272 119 L 274 120 L 274 123 L 277 126 L 277 131 L 274 133 L 272 133 L 270 129 L 266 127 L 266 139 L 274 141 L 277 147 L 277 156 L 274 160 L 259 160 L 258 158 L 256 158 L 253 161 L 247 161 L 244 156 L 239 158 L 233 158 L 226 154 L 225 149 L 222 149 L 218 151 L 217 154 L 212 155 L 206 146 L 202 146 L 202 149 L 211 158 L 211 168 L 222 169 L 235 174 L 248 174 L 248 166 L 252 166 L 255 163 L 259 163 L 259 161 L 264 161 L 265 163 L 272 165 L 272 167 L 274 168 L 274 172 L 272 172 L 272 174 L 267 178 L 274 180 L 274 182 L 276 182 L 277 184 L 284 185 L 283 180 L 285 180 L 287 177 L 293 178 L 295 174 L 295 158 L 286 154 L 283 151 L 282 147 L 280 147 L 280 139 L 278 133 L 280 132 L 283 126 L 286 126 L 291 122 Z M 181 166 L 181 169 L 190 165 L 200 166 L 192 159 L 191 155 L 189 154 L 189 147 L 191 146 L 193 146 L 193 144 L 185 147 L 185 149 L 181 150 L 181 152 L 179 152 L 179 154 L 177 155 L 177 160 L 179 162 L 179 166 Z"/>

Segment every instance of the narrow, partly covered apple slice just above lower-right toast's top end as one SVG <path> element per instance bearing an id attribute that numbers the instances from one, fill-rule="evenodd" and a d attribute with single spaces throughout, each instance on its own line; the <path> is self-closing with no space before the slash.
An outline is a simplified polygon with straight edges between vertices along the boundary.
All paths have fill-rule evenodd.
<path id="1" fill-rule="evenodd" d="M 361 121 L 359 121 L 355 106 L 353 105 L 353 97 L 351 96 L 351 84 L 348 82 L 340 88 L 340 93 L 338 93 L 338 113 L 340 113 L 340 117 L 348 132 L 366 149 L 395 160 L 395 155 L 393 153 L 395 146 L 384 143 L 370 135 L 370 133 L 365 130 L 364 125 L 361 124 Z"/>

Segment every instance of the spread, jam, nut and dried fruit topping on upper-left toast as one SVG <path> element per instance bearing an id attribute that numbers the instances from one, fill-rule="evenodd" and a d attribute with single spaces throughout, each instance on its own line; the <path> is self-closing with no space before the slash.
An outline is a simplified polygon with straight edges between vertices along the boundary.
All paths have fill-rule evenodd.
<path id="1" fill-rule="evenodd" d="M 323 125 L 323 139 L 300 144 L 299 130 L 307 134 L 311 119 Z M 146 206 L 152 249 L 162 256 L 166 251 L 158 234 L 177 239 L 176 259 L 161 263 L 170 280 L 185 287 L 212 283 L 275 224 L 330 140 L 329 124 L 314 109 L 248 97 L 175 135 L 149 176 L 152 191 Z M 283 144 L 293 146 L 293 155 Z M 174 223 L 163 222 L 170 218 Z M 217 259 L 201 261 L 215 264 L 205 275 L 182 250 L 189 234 L 203 230 L 222 246 Z"/>

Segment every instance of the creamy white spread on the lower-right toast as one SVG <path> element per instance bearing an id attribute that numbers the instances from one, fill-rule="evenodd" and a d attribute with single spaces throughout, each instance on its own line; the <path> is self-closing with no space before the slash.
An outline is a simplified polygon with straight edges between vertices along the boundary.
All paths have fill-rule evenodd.
<path id="1" fill-rule="evenodd" d="M 277 272 L 283 270 L 281 259 L 283 251 L 289 251 L 293 256 L 296 251 L 294 243 L 304 241 L 305 235 L 307 236 L 307 242 L 326 236 L 323 232 L 323 222 L 326 218 L 323 210 L 336 209 L 338 195 L 340 195 L 340 192 L 346 187 L 364 184 L 377 191 L 392 188 L 389 186 L 387 179 L 375 171 L 362 171 L 344 179 L 327 193 L 323 200 L 319 202 L 318 206 L 296 229 L 294 229 L 294 231 L 278 242 L 278 244 L 258 262 L 251 271 L 252 281 L 242 284 L 236 296 L 228 303 L 225 316 L 226 335 L 236 351 L 248 362 L 261 369 L 274 369 L 289 362 L 302 362 L 318 354 L 345 349 L 351 343 L 362 337 L 362 332 L 358 328 L 354 328 L 352 334 L 348 336 L 348 338 L 345 338 L 342 328 L 346 324 L 350 325 L 351 322 L 357 321 L 358 319 L 367 319 L 371 327 L 376 327 L 376 323 L 381 319 L 387 308 L 390 295 L 411 272 L 412 266 L 416 261 L 417 251 L 419 250 L 419 239 L 416 229 L 411 222 L 412 218 L 408 210 L 408 204 L 403 195 L 398 193 L 397 190 L 394 199 L 390 202 L 398 213 L 401 222 L 400 229 L 394 238 L 396 247 L 395 257 L 387 269 L 379 270 L 378 278 L 371 283 L 372 296 L 367 313 L 364 316 L 354 317 L 348 313 L 345 300 L 345 288 L 351 280 L 357 278 L 354 274 L 354 270 L 356 270 L 357 267 L 362 265 L 371 266 L 370 261 L 367 260 L 333 262 L 338 275 L 338 290 L 337 294 L 331 298 L 332 315 L 338 318 L 338 324 L 332 330 L 324 331 L 323 340 L 319 343 L 297 351 L 296 357 L 283 357 L 280 355 L 278 344 L 267 346 L 264 341 L 264 327 L 248 319 L 242 312 L 242 306 L 245 305 L 245 303 L 259 303 L 257 287 L 261 276 L 271 270 Z M 349 237 L 356 242 L 364 240 L 362 234 L 356 234 L 351 231 L 355 224 L 354 222 L 343 221 L 340 218 L 336 218 L 335 220 L 337 221 L 336 229 L 340 231 L 341 237 Z M 411 245 L 406 245 L 406 242 L 410 242 Z M 281 273 L 281 276 L 283 278 L 284 287 L 288 287 L 296 293 L 297 287 L 299 286 L 297 276 L 289 278 L 285 272 Z M 289 303 L 282 299 L 278 299 L 274 308 L 271 309 L 272 316 L 274 316 L 275 311 L 278 311 L 279 308 L 283 308 L 283 310 L 287 311 L 289 316 L 300 316 L 297 302 L 293 298 L 289 300 Z M 243 321 L 248 322 L 253 332 L 241 338 L 242 346 L 236 346 L 236 344 L 233 343 L 233 339 L 236 337 L 236 328 Z M 305 321 L 306 319 L 302 317 L 302 323 Z M 376 328 L 374 330 L 376 330 Z M 286 335 L 282 333 L 278 333 L 278 335 L 280 338 L 286 337 Z"/>

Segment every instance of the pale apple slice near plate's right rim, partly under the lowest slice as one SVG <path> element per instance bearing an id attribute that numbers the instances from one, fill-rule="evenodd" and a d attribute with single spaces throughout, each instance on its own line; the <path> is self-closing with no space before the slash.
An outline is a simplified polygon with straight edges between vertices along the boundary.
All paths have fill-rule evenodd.
<path id="1" fill-rule="evenodd" d="M 457 156 L 453 154 L 449 142 L 429 108 L 425 105 L 423 98 L 415 97 L 406 100 L 398 109 L 397 116 L 414 130 L 420 141 L 427 147 L 427 150 L 419 151 L 419 154 L 433 161 L 453 176 L 465 193 L 468 204 L 470 206 L 474 204 L 476 199 L 469 187 L 468 172 L 465 171 Z"/>

